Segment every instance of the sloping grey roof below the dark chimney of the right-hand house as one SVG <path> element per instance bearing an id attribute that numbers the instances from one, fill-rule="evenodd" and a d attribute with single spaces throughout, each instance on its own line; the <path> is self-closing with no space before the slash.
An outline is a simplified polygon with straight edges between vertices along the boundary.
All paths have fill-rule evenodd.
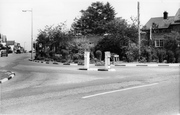
<path id="1" fill-rule="evenodd" d="M 152 24 L 156 24 L 158 29 L 168 28 L 171 23 L 174 22 L 174 16 L 169 16 L 168 19 L 163 17 L 151 18 L 145 25 L 146 30 L 149 30 Z"/>

